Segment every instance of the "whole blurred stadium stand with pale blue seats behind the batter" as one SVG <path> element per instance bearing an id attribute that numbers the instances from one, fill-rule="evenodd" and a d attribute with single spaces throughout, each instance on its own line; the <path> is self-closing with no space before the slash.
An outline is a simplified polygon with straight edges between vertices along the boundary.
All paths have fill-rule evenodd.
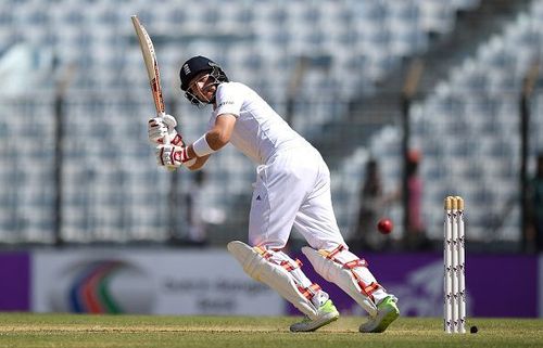
<path id="1" fill-rule="evenodd" d="M 155 43 L 167 111 L 184 137 L 204 131 L 209 111 L 184 99 L 178 68 L 206 55 L 321 151 L 348 241 L 361 237 L 367 162 L 378 162 L 392 195 L 406 183 L 406 155 L 417 151 L 425 253 L 441 253 L 442 202 L 450 194 L 466 201 L 468 253 L 534 252 L 527 192 L 543 151 L 541 0 L 4 0 L 5 253 L 84 248 L 90 257 L 102 247 L 128 255 L 130 246 L 138 253 L 189 246 L 187 197 L 195 175 L 155 165 L 146 125 L 154 108 L 131 14 Z M 207 248 L 199 250 L 213 255 L 247 239 L 254 166 L 228 147 L 204 171 L 195 201 L 204 207 Z M 384 253 L 418 252 L 401 243 L 408 233 L 406 197 L 382 212 L 395 222 L 379 242 Z M 292 245 L 300 243 L 294 233 Z"/>

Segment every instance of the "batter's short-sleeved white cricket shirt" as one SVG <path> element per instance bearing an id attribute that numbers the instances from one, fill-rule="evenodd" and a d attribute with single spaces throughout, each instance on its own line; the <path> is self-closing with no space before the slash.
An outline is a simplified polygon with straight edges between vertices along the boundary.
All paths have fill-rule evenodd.
<path id="1" fill-rule="evenodd" d="M 266 164 L 277 151 L 310 145 L 266 101 L 243 83 L 220 83 L 216 105 L 210 129 L 219 115 L 235 115 L 238 119 L 230 143 L 257 164 Z"/>

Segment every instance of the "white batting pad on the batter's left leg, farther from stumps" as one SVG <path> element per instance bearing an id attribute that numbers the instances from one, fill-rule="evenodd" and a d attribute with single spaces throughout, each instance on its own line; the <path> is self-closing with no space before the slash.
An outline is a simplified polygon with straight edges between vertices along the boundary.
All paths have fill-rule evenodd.
<path id="1" fill-rule="evenodd" d="M 317 318 L 317 309 L 299 292 L 292 275 L 285 268 L 269 262 L 243 242 L 230 242 L 227 248 L 252 279 L 275 289 L 310 319 Z"/>

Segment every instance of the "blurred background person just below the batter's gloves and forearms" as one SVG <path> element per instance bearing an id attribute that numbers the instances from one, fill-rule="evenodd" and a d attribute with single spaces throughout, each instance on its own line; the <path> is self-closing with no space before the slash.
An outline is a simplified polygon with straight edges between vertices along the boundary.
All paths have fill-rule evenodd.
<path id="1" fill-rule="evenodd" d="M 206 211 L 202 202 L 205 171 L 194 171 L 193 175 L 193 185 L 186 196 L 187 221 L 189 224 L 187 242 L 190 245 L 204 246 L 207 243 L 206 224 L 202 216 Z"/>

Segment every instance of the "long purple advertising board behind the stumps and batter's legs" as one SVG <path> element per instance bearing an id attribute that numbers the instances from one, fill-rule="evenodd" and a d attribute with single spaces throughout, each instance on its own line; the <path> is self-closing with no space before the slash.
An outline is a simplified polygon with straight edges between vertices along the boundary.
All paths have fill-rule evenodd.
<path id="1" fill-rule="evenodd" d="M 361 255 L 358 253 L 358 255 Z M 315 273 L 304 255 L 303 271 L 318 283 L 343 314 L 365 314 L 351 297 Z M 443 315 L 443 256 L 375 254 L 364 258 L 377 281 L 399 298 L 402 315 Z M 467 255 L 468 317 L 538 317 L 538 258 L 530 255 Z M 299 314 L 289 307 L 290 313 Z"/>

